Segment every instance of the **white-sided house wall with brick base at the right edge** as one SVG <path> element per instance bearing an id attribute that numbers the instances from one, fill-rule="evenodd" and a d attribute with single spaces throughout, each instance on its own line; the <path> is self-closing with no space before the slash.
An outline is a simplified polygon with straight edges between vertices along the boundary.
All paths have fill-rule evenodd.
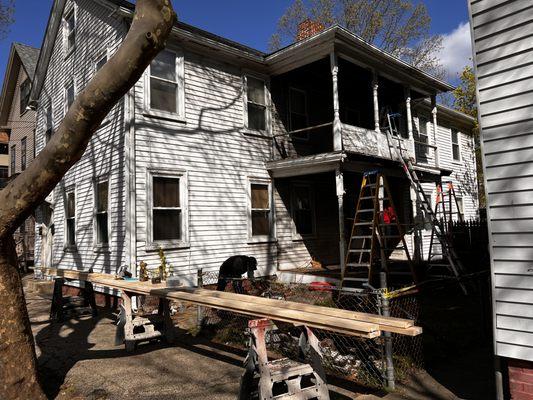
<path id="1" fill-rule="evenodd" d="M 469 9 L 498 398 L 533 400 L 533 11 L 530 2 L 501 0 L 470 0 Z"/>

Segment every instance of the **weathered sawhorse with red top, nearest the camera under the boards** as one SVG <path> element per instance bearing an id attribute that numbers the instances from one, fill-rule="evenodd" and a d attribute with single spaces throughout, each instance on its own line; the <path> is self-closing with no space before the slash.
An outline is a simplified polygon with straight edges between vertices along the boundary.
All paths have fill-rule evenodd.
<path id="1" fill-rule="evenodd" d="M 248 321 L 250 346 L 244 361 L 239 400 L 329 400 L 326 373 L 321 364 L 318 339 L 313 332 L 304 327 L 299 343 L 300 354 L 309 362 L 288 358 L 269 361 L 266 338 L 267 333 L 275 329 L 274 323 L 268 319 Z"/>

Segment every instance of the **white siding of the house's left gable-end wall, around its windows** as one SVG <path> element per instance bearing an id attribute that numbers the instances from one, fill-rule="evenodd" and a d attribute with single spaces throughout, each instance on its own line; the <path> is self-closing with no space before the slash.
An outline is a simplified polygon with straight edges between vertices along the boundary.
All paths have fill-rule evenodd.
<path id="1" fill-rule="evenodd" d="M 66 56 L 63 31 L 55 42 L 37 112 L 36 148 L 40 152 L 45 144 L 46 107 L 49 99 L 53 106 L 53 125 L 57 129 L 64 117 L 64 88 L 75 81 L 79 92 L 94 74 L 94 62 L 109 47 L 116 50 L 124 34 L 122 22 L 109 17 L 110 10 L 91 0 L 67 2 L 66 10 L 76 5 L 76 47 Z M 53 192 L 55 236 L 54 264 L 61 268 L 76 268 L 114 272 L 125 262 L 125 186 L 124 186 L 124 120 L 123 102 L 111 112 L 109 119 L 89 143 L 82 159 L 65 175 Z M 108 252 L 93 248 L 93 179 L 109 176 L 110 218 L 112 231 Z M 77 250 L 64 250 L 65 214 L 64 188 L 76 191 L 76 243 Z M 39 224 L 37 224 L 37 229 Z M 36 265 L 40 265 L 40 238 L 36 235 Z"/>

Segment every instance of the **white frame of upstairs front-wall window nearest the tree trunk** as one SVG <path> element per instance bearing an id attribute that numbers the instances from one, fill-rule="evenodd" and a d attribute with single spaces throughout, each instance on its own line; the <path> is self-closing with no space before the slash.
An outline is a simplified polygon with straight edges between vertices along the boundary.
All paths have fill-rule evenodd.
<path id="1" fill-rule="evenodd" d="M 177 112 L 167 112 L 152 109 L 150 107 L 150 77 L 151 65 L 148 65 L 144 74 L 144 115 L 149 117 L 170 119 L 174 121 L 185 122 L 185 57 L 183 51 L 179 49 L 166 48 L 165 51 L 174 53 L 176 56 L 176 79 L 178 90 L 177 96 Z M 160 79 L 160 78 L 158 78 Z"/>

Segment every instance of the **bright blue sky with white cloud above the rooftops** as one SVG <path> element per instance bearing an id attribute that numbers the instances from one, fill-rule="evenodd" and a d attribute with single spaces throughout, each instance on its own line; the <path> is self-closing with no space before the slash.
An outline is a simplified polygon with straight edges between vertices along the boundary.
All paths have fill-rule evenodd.
<path id="1" fill-rule="evenodd" d="M 441 56 L 454 81 L 458 69 L 468 63 L 470 42 L 466 0 L 423 0 L 432 18 L 432 32 L 445 36 Z M 196 0 L 173 3 L 180 20 L 237 42 L 266 50 L 276 22 L 291 0 Z M 3 77 L 11 42 L 40 47 L 52 0 L 16 0 L 15 23 L 0 42 L 0 74 Z"/>

